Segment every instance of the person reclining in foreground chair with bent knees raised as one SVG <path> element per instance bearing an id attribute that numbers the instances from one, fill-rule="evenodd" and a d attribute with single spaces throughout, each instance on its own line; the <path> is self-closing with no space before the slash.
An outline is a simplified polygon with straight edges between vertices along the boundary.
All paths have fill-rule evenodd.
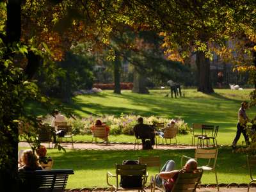
<path id="1" fill-rule="evenodd" d="M 175 162 L 173 160 L 168 160 L 163 168 L 161 169 L 159 173 L 159 177 L 156 178 L 156 185 L 157 186 L 164 186 L 166 191 L 172 191 L 173 184 L 175 183 L 175 180 L 178 178 L 179 171 L 175 170 Z M 197 162 L 195 159 L 189 159 L 184 169 L 186 169 L 188 172 L 193 172 L 197 169 Z"/>

